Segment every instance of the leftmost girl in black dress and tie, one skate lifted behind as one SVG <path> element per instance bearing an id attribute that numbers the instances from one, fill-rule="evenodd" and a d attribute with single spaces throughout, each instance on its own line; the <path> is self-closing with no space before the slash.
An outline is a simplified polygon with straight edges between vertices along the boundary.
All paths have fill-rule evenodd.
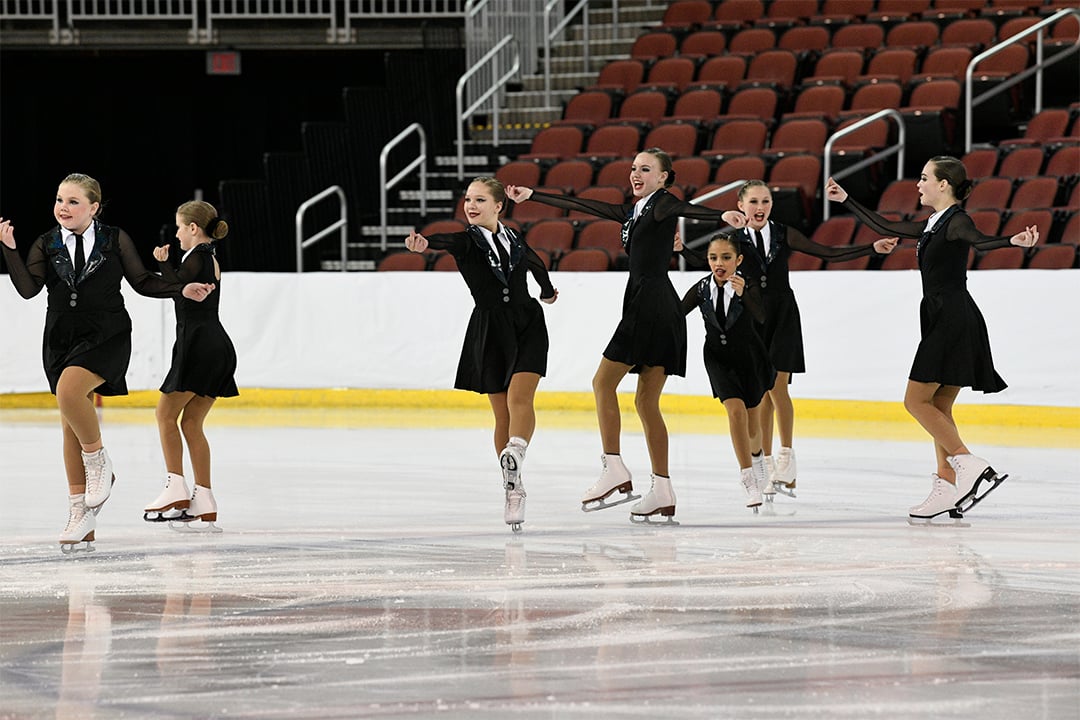
<path id="1" fill-rule="evenodd" d="M 58 225 L 33 241 L 25 261 L 16 250 L 15 227 L 0 218 L 0 246 L 15 289 L 27 299 L 49 291 L 41 354 L 64 432 L 69 506 L 60 533 L 64 552 L 93 549 L 97 513 L 116 481 L 93 396 L 127 394 L 132 322 L 120 279 L 156 298 L 183 294 L 201 302 L 214 290 L 211 283 L 184 284 L 150 273 L 131 236 L 97 219 L 100 208 L 97 180 L 68 175 L 53 205 Z"/>

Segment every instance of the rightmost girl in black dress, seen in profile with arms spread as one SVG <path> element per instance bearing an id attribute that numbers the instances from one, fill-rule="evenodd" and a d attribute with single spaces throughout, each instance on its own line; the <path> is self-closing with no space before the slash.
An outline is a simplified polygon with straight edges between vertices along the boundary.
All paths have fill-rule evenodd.
<path id="1" fill-rule="evenodd" d="M 1030 247 L 1039 242 L 1039 230 L 1031 226 L 1012 237 L 981 233 L 960 207 L 971 192 L 971 180 L 956 158 L 932 158 L 923 166 L 917 187 L 920 202 L 934 210 L 924 222 L 886 220 L 849 198 L 833 178 L 825 185 L 825 193 L 876 231 L 919 241 L 922 339 L 908 375 L 904 407 L 934 439 L 937 471 L 931 476 L 933 488 L 909 513 L 912 518 L 929 520 L 943 513 L 959 517 L 1004 479 L 985 460 L 971 454 L 953 419 L 953 405 L 961 388 L 984 393 L 1005 389 L 994 369 L 983 314 L 968 294 L 968 254 L 972 247 Z"/>

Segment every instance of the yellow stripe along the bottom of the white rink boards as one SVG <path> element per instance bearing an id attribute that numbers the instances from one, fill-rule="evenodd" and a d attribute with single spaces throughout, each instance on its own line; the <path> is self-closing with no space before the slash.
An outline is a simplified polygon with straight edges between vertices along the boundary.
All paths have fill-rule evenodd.
<path id="1" fill-rule="evenodd" d="M 120 423 L 152 423 L 157 391 L 102 398 L 107 418 Z M 927 440 L 926 432 L 901 403 L 795 398 L 795 436 Z M 17 421 L 55 416 L 49 393 L 0 394 L 0 419 Z M 632 393 L 620 393 L 623 427 L 639 433 Z M 728 434 L 727 416 L 718 400 L 691 395 L 664 395 L 664 420 L 673 433 Z M 596 431 L 593 396 L 589 393 L 537 393 L 538 426 Z M 8 412 L 12 410 L 12 412 Z M 15 412 L 38 410 L 38 412 Z M 1080 447 L 1080 408 L 1018 405 L 957 406 L 956 420 L 969 444 L 1030 447 Z M 487 397 L 453 390 L 270 390 L 242 389 L 222 398 L 212 424 L 306 427 L 490 427 Z"/>

